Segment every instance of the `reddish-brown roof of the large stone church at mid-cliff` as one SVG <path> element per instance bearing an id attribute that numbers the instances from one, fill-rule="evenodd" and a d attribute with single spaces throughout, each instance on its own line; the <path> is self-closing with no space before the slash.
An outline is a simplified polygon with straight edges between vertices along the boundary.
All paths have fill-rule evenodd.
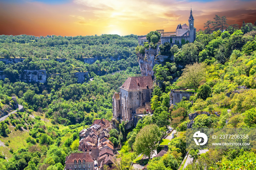
<path id="1" fill-rule="evenodd" d="M 127 90 L 152 89 L 152 76 L 128 77 L 120 88 Z"/>

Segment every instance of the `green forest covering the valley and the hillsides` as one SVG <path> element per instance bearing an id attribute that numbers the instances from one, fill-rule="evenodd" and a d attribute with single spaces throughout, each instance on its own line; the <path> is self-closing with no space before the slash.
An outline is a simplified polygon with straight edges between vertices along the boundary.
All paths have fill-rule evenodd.
<path id="1" fill-rule="evenodd" d="M 153 116 L 144 116 L 129 130 L 125 130 L 124 121 L 117 122 L 118 129 L 110 133 L 115 146 L 122 146 L 117 159 L 121 165 L 117 163 L 116 169 L 131 169 L 133 162 L 148 164 L 148 170 L 177 170 L 184 166 L 187 152 L 194 161 L 185 170 L 255 169 L 255 146 L 200 155 L 198 150 L 186 149 L 185 131 L 191 113 L 210 113 L 197 116 L 192 128 L 256 127 L 256 27 L 243 23 L 242 27 L 224 24 L 223 28 L 207 22 L 206 30 L 197 32 L 193 43 L 159 45 L 159 54 L 174 60 L 153 68 Z M 6 76 L 0 80 L 0 111 L 16 110 L 11 99 L 15 96 L 25 112 L 17 109 L 0 122 L 0 169 L 63 170 L 65 157 L 78 150 L 79 132 L 96 119 L 112 120 L 114 92 L 128 77 L 140 76 L 136 53 L 157 47 L 157 31 L 147 38 L 150 43 L 137 47 L 137 35 L 1 35 L 1 59 L 24 60 L 5 64 L 0 59 L 0 76 Z M 98 60 L 84 62 L 94 58 Z M 45 70 L 47 80 L 20 81 L 24 70 Z M 82 84 L 77 83 L 76 72 L 88 72 Z M 170 106 L 170 90 L 180 88 L 188 88 L 195 95 Z M 178 134 L 166 143 L 161 137 L 168 126 Z M 146 138 L 150 140 L 142 142 Z M 150 157 L 163 143 L 169 148 L 163 157 L 138 157 L 141 153 Z"/>

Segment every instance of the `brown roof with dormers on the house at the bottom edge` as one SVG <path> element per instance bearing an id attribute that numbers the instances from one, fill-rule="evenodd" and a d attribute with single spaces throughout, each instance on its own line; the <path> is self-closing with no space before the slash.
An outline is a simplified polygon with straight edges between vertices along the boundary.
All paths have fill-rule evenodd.
<path id="1" fill-rule="evenodd" d="M 83 160 L 85 162 L 94 162 L 93 158 L 89 153 L 83 152 L 83 153 L 72 153 L 71 155 L 66 157 L 65 163 L 74 163 L 75 160 L 78 162 L 79 159 L 81 160 L 81 162 L 83 162 Z"/>

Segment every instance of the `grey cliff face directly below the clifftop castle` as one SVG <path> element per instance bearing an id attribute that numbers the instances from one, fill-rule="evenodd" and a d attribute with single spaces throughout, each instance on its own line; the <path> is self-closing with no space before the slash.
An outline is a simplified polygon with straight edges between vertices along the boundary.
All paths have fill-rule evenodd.
<path id="1" fill-rule="evenodd" d="M 149 48 L 145 50 L 145 53 L 138 53 L 138 62 L 140 66 L 140 71 L 142 76 L 153 76 L 153 67 L 156 64 L 164 64 L 167 59 L 173 61 L 173 57 L 168 57 L 166 55 L 158 55 L 159 46 L 156 49 Z"/>

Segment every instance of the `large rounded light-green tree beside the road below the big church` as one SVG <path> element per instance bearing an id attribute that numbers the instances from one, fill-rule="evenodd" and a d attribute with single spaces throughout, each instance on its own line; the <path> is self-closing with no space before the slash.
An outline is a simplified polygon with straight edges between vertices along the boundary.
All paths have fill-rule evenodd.
<path id="1" fill-rule="evenodd" d="M 143 127 L 136 136 L 133 149 L 138 153 L 147 155 L 150 159 L 151 155 L 157 147 L 161 133 L 156 124 L 150 124 Z"/>

